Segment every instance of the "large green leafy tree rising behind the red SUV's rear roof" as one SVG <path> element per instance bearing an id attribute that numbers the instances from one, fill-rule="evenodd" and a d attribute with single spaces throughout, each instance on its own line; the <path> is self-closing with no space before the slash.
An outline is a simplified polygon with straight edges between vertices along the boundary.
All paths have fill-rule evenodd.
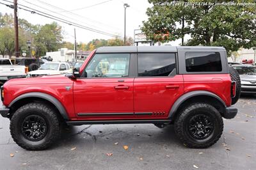
<path id="1" fill-rule="evenodd" d="M 215 0 L 204 1 L 212 4 L 201 6 L 172 5 L 184 1 L 168 1 L 170 5 L 160 0 L 148 2 L 153 6 L 147 9 L 148 20 L 143 22 L 142 31 L 154 42 L 170 42 L 189 35 L 191 38 L 184 45 L 223 46 L 228 55 L 241 47 L 256 46 L 256 6 L 212 5 Z M 230 1 L 218 1 L 223 2 Z"/>

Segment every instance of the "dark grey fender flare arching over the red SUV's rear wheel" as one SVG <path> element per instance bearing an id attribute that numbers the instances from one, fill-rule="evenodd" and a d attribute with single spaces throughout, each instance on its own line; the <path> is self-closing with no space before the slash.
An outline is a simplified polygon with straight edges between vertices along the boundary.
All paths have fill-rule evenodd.
<path id="1" fill-rule="evenodd" d="M 176 102 L 172 105 L 172 109 L 169 112 L 169 119 L 172 119 L 175 112 L 177 112 L 177 110 L 179 109 L 180 105 L 185 102 L 186 100 L 188 100 L 191 97 L 196 97 L 196 96 L 209 96 L 209 97 L 214 97 L 216 98 L 216 100 L 218 100 L 219 102 L 221 102 L 221 104 L 223 104 L 224 107 L 226 107 L 225 102 L 218 97 L 217 95 L 215 95 L 214 93 L 211 93 L 209 91 L 191 91 L 189 93 L 185 93 L 184 95 L 182 95 L 181 97 L 178 98 L 178 100 L 176 100 Z"/>

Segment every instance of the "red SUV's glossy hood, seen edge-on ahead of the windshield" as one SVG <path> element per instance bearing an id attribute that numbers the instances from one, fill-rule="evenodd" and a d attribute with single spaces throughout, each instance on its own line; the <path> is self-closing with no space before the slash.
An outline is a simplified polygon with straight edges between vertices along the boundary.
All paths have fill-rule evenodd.
<path id="1" fill-rule="evenodd" d="M 65 84 L 72 82 L 71 79 L 65 77 L 64 75 L 44 75 L 39 77 L 29 77 L 29 78 L 19 78 L 19 79 L 10 79 L 4 83 L 4 86 L 10 85 L 35 85 L 35 84 Z"/>

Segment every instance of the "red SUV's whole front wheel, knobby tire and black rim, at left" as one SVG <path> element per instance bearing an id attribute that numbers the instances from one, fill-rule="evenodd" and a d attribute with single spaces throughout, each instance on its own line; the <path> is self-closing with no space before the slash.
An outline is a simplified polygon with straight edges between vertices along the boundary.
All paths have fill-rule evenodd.
<path id="1" fill-rule="evenodd" d="M 12 116 L 13 141 L 26 150 L 44 150 L 61 134 L 61 122 L 49 105 L 31 103 L 20 107 Z"/>

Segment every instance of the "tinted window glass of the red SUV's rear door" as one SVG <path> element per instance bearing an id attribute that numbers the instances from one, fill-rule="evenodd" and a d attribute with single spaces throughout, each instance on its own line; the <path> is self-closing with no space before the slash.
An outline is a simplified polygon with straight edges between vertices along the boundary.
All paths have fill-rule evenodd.
<path id="1" fill-rule="evenodd" d="M 174 53 L 139 53 L 138 76 L 168 76 L 175 71 Z"/>

